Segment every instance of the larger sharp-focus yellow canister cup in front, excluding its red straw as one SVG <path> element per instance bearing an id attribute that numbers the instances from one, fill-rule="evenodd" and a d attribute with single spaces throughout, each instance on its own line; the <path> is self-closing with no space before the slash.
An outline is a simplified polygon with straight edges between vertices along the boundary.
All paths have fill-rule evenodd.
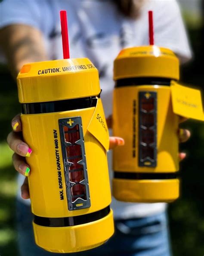
<path id="1" fill-rule="evenodd" d="M 105 243 L 114 226 L 97 69 L 87 58 L 37 62 L 17 81 L 37 245 L 70 253 Z"/>

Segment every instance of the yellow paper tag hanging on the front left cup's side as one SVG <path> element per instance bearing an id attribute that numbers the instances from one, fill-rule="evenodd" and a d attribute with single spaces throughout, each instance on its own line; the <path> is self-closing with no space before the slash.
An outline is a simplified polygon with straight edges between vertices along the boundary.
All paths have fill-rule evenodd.
<path id="1" fill-rule="evenodd" d="M 109 149 L 108 127 L 105 121 L 101 99 L 97 101 L 96 109 L 87 130 L 105 147 L 105 150 Z"/>

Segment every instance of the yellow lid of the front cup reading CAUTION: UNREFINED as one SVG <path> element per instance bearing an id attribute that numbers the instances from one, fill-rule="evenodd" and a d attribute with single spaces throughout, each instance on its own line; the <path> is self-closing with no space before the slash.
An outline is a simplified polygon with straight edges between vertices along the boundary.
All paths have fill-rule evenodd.
<path id="1" fill-rule="evenodd" d="M 100 93 L 98 70 L 87 58 L 26 64 L 17 83 L 21 103 L 75 99 Z"/>

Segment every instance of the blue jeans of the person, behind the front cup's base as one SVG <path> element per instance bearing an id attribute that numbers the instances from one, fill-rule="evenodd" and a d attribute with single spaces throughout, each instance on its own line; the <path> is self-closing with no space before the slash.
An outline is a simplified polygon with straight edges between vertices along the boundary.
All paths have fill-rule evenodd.
<path id="1" fill-rule="evenodd" d="M 166 213 L 151 217 L 115 221 L 115 233 L 108 242 L 80 253 L 49 253 L 34 242 L 30 207 L 17 202 L 20 256 L 170 256 Z"/>

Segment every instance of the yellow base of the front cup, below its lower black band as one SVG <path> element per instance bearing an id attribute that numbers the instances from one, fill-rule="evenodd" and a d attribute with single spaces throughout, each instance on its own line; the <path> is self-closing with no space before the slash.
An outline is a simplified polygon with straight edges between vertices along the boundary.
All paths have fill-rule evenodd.
<path id="1" fill-rule="evenodd" d="M 38 246 L 53 253 L 89 250 L 105 243 L 114 233 L 113 212 L 98 221 L 72 227 L 43 227 L 33 223 Z"/>

